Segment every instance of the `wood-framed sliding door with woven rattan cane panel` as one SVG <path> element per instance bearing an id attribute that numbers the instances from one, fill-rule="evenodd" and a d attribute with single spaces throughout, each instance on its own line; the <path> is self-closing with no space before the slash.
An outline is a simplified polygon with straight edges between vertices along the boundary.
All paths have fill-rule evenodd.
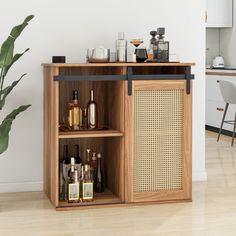
<path id="1" fill-rule="evenodd" d="M 191 133 L 188 100 L 185 81 L 134 82 L 129 201 L 191 198 L 191 143 L 185 141 Z"/>

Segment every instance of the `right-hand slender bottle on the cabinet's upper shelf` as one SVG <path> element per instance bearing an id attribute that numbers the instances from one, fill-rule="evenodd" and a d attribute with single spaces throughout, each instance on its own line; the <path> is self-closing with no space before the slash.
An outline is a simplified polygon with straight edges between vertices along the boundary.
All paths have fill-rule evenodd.
<path id="1" fill-rule="evenodd" d="M 94 101 L 93 90 L 90 91 L 90 101 L 87 105 L 87 113 L 88 113 L 88 128 L 95 129 L 97 128 L 98 124 L 98 117 L 97 117 L 97 104 Z"/>

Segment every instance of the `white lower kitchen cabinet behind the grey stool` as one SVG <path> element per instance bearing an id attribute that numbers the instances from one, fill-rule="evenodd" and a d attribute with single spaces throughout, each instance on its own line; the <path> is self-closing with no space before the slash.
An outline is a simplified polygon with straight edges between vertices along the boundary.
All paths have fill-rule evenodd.
<path id="1" fill-rule="evenodd" d="M 236 84 L 236 74 L 235 76 L 230 75 L 230 73 L 225 75 L 206 75 L 206 125 L 214 128 L 219 128 L 224 109 L 225 102 L 222 98 L 219 80 L 225 80 Z M 226 120 L 234 120 L 236 111 L 236 105 L 229 105 Z M 227 131 L 232 131 L 232 125 L 224 124 L 223 129 Z"/>

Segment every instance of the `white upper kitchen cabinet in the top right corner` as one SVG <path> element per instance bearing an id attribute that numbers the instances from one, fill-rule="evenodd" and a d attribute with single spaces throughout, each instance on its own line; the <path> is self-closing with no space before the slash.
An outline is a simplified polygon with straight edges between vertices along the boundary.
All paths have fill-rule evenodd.
<path id="1" fill-rule="evenodd" d="M 233 27 L 233 0 L 207 0 L 206 27 Z"/>

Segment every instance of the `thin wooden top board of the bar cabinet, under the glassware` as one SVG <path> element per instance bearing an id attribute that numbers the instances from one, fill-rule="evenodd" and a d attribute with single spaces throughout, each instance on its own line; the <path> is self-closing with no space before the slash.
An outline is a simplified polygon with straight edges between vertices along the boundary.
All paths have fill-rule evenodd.
<path id="1" fill-rule="evenodd" d="M 170 63 L 154 63 L 154 62 L 145 62 L 145 63 L 43 63 L 42 66 L 44 67 L 144 67 L 144 66 L 194 66 L 195 63 L 193 62 L 186 62 L 186 63 L 177 63 L 177 62 L 170 62 Z"/>

